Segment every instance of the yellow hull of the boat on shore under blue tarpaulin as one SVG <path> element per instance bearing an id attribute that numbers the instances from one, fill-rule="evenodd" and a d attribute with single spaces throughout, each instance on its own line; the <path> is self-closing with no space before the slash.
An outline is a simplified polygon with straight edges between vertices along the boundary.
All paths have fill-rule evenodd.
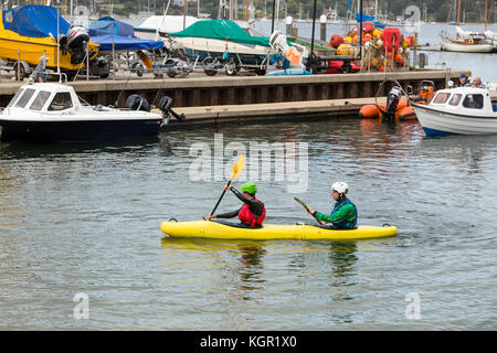
<path id="1" fill-rule="evenodd" d="M 93 60 L 98 54 L 98 46 L 89 42 L 88 49 L 91 52 L 89 60 Z M 52 38 L 28 38 L 19 35 L 13 31 L 3 28 L 3 20 L 0 15 L 0 57 L 4 61 L 24 61 L 30 66 L 35 66 L 40 63 L 40 56 L 46 52 L 49 61 L 46 67 L 55 68 L 59 66 L 66 71 L 77 71 L 85 67 L 86 64 L 71 64 L 71 54 L 65 54 L 59 50 L 57 58 L 57 41 Z"/>

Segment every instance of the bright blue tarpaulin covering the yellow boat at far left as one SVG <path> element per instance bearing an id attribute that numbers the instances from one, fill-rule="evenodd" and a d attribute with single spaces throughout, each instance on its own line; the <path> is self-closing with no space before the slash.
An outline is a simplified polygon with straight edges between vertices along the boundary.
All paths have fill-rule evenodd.
<path id="1" fill-rule="evenodd" d="M 71 28 L 57 9 L 35 4 L 2 11 L 2 20 L 6 30 L 31 38 L 57 38 L 57 34 L 65 34 Z"/>

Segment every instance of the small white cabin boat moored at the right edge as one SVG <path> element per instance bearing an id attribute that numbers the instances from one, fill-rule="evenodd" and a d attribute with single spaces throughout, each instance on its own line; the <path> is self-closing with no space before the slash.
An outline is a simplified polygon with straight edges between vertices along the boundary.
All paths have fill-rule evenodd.
<path id="1" fill-rule="evenodd" d="M 414 104 L 426 136 L 497 133 L 497 92 L 458 87 L 441 89 L 427 106 Z"/>

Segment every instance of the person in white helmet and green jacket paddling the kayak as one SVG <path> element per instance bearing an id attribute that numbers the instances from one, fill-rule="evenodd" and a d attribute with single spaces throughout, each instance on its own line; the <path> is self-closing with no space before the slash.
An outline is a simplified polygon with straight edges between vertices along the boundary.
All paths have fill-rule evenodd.
<path id="1" fill-rule="evenodd" d="M 357 207 L 347 199 L 346 194 L 349 185 L 343 182 L 336 182 L 331 186 L 331 196 L 336 201 L 331 214 L 322 214 L 320 212 L 308 208 L 309 214 L 314 215 L 322 225 L 331 223 L 337 229 L 353 229 L 357 227 Z"/>

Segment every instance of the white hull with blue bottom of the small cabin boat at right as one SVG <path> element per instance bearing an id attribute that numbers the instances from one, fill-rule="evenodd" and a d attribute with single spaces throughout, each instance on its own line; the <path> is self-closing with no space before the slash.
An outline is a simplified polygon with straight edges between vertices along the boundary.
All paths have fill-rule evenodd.
<path id="1" fill-rule="evenodd" d="M 417 120 L 426 136 L 497 133 L 497 114 L 494 116 L 465 116 L 414 105 Z"/>

